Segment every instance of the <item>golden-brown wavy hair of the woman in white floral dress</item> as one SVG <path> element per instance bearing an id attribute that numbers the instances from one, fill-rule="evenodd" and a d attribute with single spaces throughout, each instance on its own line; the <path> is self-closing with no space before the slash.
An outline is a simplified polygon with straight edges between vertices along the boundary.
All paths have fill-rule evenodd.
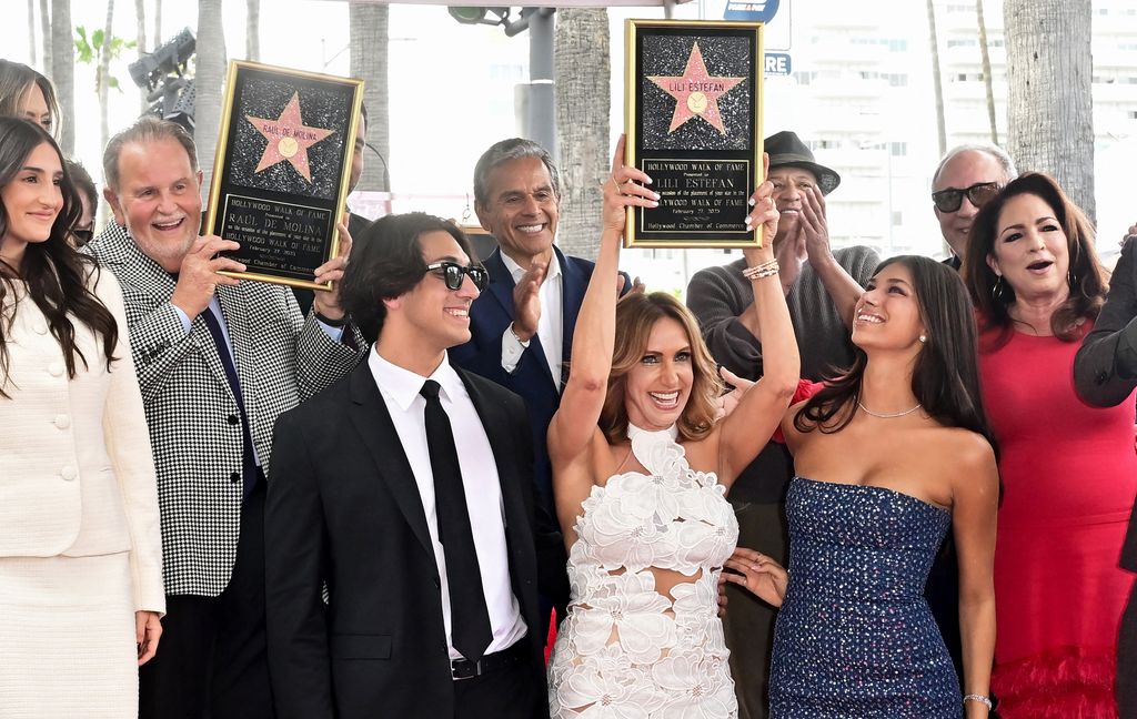
<path id="1" fill-rule="evenodd" d="M 639 365 L 647 351 L 652 328 L 661 319 L 674 319 L 687 333 L 691 348 L 694 379 L 687 406 L 675 423 L 681 441 L 700 440 L 714 426 L 717 399 L 722 392 L 717 367 L 707 345 L 699 334 L 695 316 L 674 296 L 666 292 L 648 294 L 632 292 L 616 304 L 616 344 L 612 356 L 612 371 L 608 375 L 608 393 L 600 410 L 600 430 L 611 444 L 628 437 L 628 373 Z"/>

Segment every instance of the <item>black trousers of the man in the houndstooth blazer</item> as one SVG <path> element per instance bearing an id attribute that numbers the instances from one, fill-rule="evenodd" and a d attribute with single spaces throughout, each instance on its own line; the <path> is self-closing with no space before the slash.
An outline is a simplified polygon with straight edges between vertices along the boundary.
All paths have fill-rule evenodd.
<path id="1" fill-rule="evenodd" d="M 166 596 L 158 654 L 139 669 L 141 719 L 273 719 L 265 644 L 265 482 L 244 500 L 219 596 Z"/>

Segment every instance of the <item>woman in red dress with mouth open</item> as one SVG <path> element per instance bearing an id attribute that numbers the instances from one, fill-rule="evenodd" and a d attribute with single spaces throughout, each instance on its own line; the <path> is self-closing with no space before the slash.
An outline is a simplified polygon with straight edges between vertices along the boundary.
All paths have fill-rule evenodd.
<path id="1" fill-rule="evenodd" d="M 1134 406 L 1099 409 L 1073 362 L 1106 278 L 1086 216 L 1046 175 L 976 217 L 964 277 L 979 310 L 984 401 L 999 442 L 991 687 L 1004 719 L 1115 717 L 1118 558 L 1137 493 Z"/>

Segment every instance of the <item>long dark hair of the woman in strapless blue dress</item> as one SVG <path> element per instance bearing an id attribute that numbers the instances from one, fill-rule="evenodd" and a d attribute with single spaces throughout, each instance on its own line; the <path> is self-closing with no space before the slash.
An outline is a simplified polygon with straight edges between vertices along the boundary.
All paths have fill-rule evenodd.
<path id="1" fill-rule="evenodd" d="M 912 392 L 923 411 L 946 427 L 962 427 L 981 434 L 995 448 L 979 393 L 979 349 L 974 309 L 958 275 L 947 265 L 927 257 L 902 254 L 877 266 L 874 275 L 889 265 L 902 265 L 912 274 L 920 318 L 927 341 L 916 356 Z M 794 417 L 798 432 L 844 429 L 856 413 L 861 382 L 869 357 L 854 348 L 853 366 L 828 381 Z"/>

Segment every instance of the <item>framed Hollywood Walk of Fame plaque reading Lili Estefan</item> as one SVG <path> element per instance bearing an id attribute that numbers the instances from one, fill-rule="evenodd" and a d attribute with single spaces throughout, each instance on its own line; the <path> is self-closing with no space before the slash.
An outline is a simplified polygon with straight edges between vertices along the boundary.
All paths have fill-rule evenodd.
<path id="1" fill-rule="evenodd" d="M 744 248 L 762 175 L 762 23 L 626 25 L 625 161 L 647 173 L 659 207 L 628 214 L 624 243 Z"/>

